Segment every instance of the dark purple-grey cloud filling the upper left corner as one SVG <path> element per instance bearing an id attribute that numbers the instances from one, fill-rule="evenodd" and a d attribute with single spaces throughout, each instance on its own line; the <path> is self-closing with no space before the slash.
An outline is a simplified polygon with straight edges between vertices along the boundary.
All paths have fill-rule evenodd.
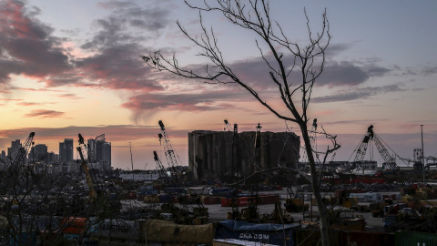
<path id="1" fill-rule="evenodd" d="M 12 74 L 42 78 L 70 68 L 61 40 L 35 18 L 38 13 L 21 1 L 0 4 L 0 83 Z"/>

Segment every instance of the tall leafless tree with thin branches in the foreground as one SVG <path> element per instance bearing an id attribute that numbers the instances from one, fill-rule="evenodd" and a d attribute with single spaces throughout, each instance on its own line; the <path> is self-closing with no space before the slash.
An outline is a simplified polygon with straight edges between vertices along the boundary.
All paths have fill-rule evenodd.
<path id="1" fill-rule="evenodd" d="M 179 67 L 178 59 L 175 55 L 168 58 L 159 51 L 148 56 L 142 56 L 143 60 L 150 67 L 160 71 L 167 71 L 179 77 L 202 79 L 214 84 L 238 84 L 249 91 L 261 105 L 268 108 L 275 116 L 296 123 L 300 128 L 304 146 L 307 150 L 310 176 L 301 173 L 299 169 L 294 169 L 294 171 L 300 172 L 310 180 L 320 211 L 321 242 L 322 245 L 329 245 L 328 210 L 323 204 L 320 194 L 322 174 L 320 169 L 316 169 L 316 159 L 320 155 L 319 153 L 315 155 L 316 150 L 311 146 L 309 128 L 309 108 L 312 89 L 316 80 L 323 72 L 326 49 L 330 45 L 330 25 L 326 16 L 326 10 L 322 14 L 321 29 L 314 34 L 311 32 L 310 20 L 304 9 L 304 15 L 307 20 L 308 43 L 302 46 L 286 36 L 284 27 L 272 19 L 268 0 L 214 0 L 204 1 L 200 5 L 193 5 L 188 3 L 188 1 L 185 1 L 185 3 L 190 8 L 198 10 L 199 23 L 203 34 L 201 36 L 190 36 L 188 31 L 179 22 L 178 26 L 191 42 L 201 48 L 202 51 L 198 53 L 198 56 L 208 58 L 212 66 L 205 66 L 203 72 L 194 72 L 193 70 Z M 287 108 L 285 113 L 269 105 L 259 96 L 254 87 L 250 86 L 249 81 L 240 79 L 225 62 L 213 29 L 208 30 L 202 20 L 202 13 L 208 12 L 219 12 L 231 24 L 247 29 L 258 36 L 256 46 L 265 65 L 269 69 L 270 83 L 273 83 L 273 86 L 278 88 L 283 106 Z M 265 46 L 267 48 L 263 48 Z M 328 155 L 339 149 L 340 145 L 337 144 L 336 138 L 327 134 L 324 129 L 320 133 L 329 138 L 332 144 L 322 153 L 324 154 L 324 159 L 320 162 L 324 163 Z"/>

